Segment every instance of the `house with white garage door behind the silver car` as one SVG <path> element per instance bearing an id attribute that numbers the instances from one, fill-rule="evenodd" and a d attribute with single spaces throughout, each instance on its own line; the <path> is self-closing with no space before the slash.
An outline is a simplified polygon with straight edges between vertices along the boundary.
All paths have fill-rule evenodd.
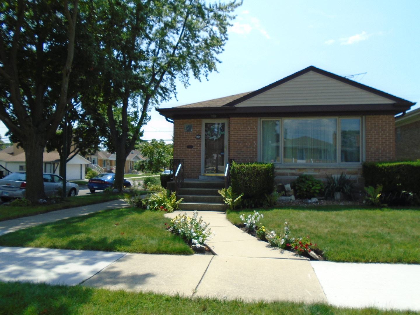
<path id="1" fill-rule="evenodd" d="M 6 148 L 7 149 L 7 148 Z M 5 150 L 6 150 L 5 149 Z M 15 152 L 16 154 L 16 152 Z M 25 172 L 25 152 L 21 152 L 17 155 L 6 154 L 4 150 L 0 151 L 0 165 L 6 168 L 8 171 L 14 172 Z M 81 155 L 75 155 L 70 161 L 67 162 L 66 179 L 84 179 L 85 168 L 89 164 L 89 160 L 85 159 Z M 1 171 L 1 170 L 0 170 Z M 43 158 L 43 172 L 59 174 L 60 171 L 60 156 L 58 152 L 44 152 Z"/>

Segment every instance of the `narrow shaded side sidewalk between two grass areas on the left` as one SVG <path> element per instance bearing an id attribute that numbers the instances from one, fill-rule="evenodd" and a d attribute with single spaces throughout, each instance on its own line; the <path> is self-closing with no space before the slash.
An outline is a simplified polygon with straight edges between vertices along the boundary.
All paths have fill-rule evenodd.
<path id="1" fill-rule="evenodd" d="M 97 203 L 95 205 L 87 205 L 76 208 L 56 210 L 38 215 L 31 215 L 13 220 L 0 221 L 0 235 L 29 228 L 42 223 L 50 223 L 58 220 L 87 215 L 101 210 L 115 209 L 127 207 L 127 203 L 122 200 L 113 200 L 108 202 Z"/>

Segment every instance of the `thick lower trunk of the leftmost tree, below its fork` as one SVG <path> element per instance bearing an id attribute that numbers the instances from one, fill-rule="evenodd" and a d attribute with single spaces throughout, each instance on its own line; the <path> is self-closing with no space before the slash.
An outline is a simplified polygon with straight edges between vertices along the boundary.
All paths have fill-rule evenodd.
<path id="1" fill-rule="evenodd" d="M 26 159 L 26 198 L 32 202 L 45 198 L 43 173 L 45 143 L 37 134 L 24 142 Z"/>

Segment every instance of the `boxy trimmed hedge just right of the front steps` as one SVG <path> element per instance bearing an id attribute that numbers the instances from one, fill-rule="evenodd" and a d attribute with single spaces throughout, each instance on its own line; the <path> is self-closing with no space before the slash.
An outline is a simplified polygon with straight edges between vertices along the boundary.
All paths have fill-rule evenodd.
<path id="1" fill-rule="evenodd" d="M 262 199 L 271 194 L 274 187 L 272 163 L 232 163 L 231 186 L 234 194 L 244 193 L 244 199 Z"/>

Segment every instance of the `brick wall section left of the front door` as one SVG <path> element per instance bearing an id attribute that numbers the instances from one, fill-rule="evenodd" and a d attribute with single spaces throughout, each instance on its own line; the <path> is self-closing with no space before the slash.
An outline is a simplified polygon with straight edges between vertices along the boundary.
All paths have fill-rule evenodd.
<path id="1" fill-rule="evenodd" d="M 192 132 L 184 132 L 184 125 L 192 124 Z M 180 119 L 173 122 L 173 158 L 184 159 L 184 178 L 201 175 L 201 119 Z M 192 145 L 192 149 L 187 149 Z"/>

